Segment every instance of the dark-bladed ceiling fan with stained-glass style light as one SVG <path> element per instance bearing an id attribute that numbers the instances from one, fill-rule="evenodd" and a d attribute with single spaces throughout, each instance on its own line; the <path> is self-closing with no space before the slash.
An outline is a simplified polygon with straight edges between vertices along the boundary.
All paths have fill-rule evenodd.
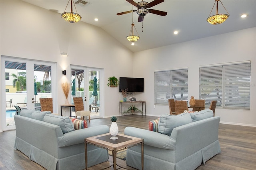
<path id="1" fill-rule="evenodd" d="M 138 9 L 137 10 L 130 10 L 130 11 L 126 11 L 126 12 L 120 12 L 120 13 L 117 13 L 116 15 L 122 15 L 122 14 L 128 14 L 130 12 L 135 12 L 139 15 L 139 18 L 138 18 L 138 22 L 142 22 L 143 21 L 143 18 L 144 16 L 146 16 L 146 14 L 149 13 L 152 13 L 152 14 L 156 14 L 156 15 L 160 15 L 160 16 L 166 16 L 167 15 L 167 12 L 164 12 L 164 11 L 158 11 L 158 10 L 153 10 L 153 9 L 148 9 L 148 8 L 151 8 L 157 4 L 160 4 L 162 2 L 164 2 L 164 0 L 154 0 L 150 3 L 148 2 L 145 2 L 145 1 L 141 1 L 141 2 L 134 2 L 133 0 L 126 0 L 127 2 L 129 2 L 130 4 L 136 6 Z"/>

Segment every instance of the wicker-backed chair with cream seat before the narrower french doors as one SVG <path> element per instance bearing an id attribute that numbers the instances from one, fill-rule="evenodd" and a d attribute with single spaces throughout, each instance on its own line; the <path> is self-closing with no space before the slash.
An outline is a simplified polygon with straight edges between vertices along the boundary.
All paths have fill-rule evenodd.
<path id="1" fill-rule="evenodd" d="M 89 117 L 89 122 L 91 122 L 91 112 L 84 110 L 84 102 L 82 97 L 73 97 L 75 110 L 76 110 L 76 119 L 78 116 L 81 117 L 81 120 L 84 120 L 85 116 Z"/>

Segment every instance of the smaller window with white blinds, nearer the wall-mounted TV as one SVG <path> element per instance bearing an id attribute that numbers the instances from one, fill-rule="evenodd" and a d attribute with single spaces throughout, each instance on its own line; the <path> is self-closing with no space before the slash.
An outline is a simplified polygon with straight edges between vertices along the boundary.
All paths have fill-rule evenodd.
<path id="1" fill-rule="evenodd" d="M 168 99 L 188 101 L 188 68 L 154 72 L 154 103 L 168 105 Z"/>

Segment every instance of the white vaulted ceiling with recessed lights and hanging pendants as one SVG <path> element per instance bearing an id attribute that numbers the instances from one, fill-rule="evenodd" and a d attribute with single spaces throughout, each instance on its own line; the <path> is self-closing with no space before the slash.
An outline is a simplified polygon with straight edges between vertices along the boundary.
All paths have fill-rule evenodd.
<path id="1" fill-rule="evenodd" d="M 23 1 L 60 14 L 64 12 L 68 4 L 68 0 Z M 77 1 L 74 0 L 74 2 Z M 87 4 L 83 5 L 80 2 L 75 5 L 77 13 L 82 16 L 81 21 L 102 28 L 134 52 L 256 27 L 256 0 L 221 0 L 230 16 L 219 25 L 206 22 L 215 0 L 165 0 L 152 9 L 165 11 L 168 14 L 159 16 L 148 13 L 144 17 L 143 32 L 142 22 L 138 22 L 138 14 L 133 12 L 135 28 L 140 39 L 135 42 L 135 45 L 131 45 L 126 40 L 126 36 L 130 32 L 132 13 L 120 16 L 116 14 L 132 10 L 132 8 L 135 10 L 135 6 L 132 7 L 132 4 L 126 0 L 83 1 L 86 1 Z M 136 3 L 139 1 L 141 0 L 134 0 Z M 153 0 L 144 1 L 150 3 Z M 70 4 L 66 12 L 70 12 L 68 9 L 70 9 Z M 216 7 L 212 10 L 211 15 L 214 15 L 215 12 Z M 227 13 L 220 3 L 218 13 Z M 242 14 L 248 16 L 241 18 Z M 98 21 L 94 21 L 95 18 L 98 18 Z M 60 18 L 60 20 L 63 19 Z M 178 31 L 178 34 L 175 35 L 174 31 Z M 136 34 L 135 30 L 134 34 Z"/>

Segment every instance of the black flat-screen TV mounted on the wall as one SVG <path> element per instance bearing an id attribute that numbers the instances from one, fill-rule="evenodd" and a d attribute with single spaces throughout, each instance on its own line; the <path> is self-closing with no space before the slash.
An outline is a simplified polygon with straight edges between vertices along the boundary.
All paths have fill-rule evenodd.
<path id="1" fill-rule="evenodd" d="M 144 92 L 144 78 L 120 77 L 119 91 L 128 89 L 128 92 Z"/>

